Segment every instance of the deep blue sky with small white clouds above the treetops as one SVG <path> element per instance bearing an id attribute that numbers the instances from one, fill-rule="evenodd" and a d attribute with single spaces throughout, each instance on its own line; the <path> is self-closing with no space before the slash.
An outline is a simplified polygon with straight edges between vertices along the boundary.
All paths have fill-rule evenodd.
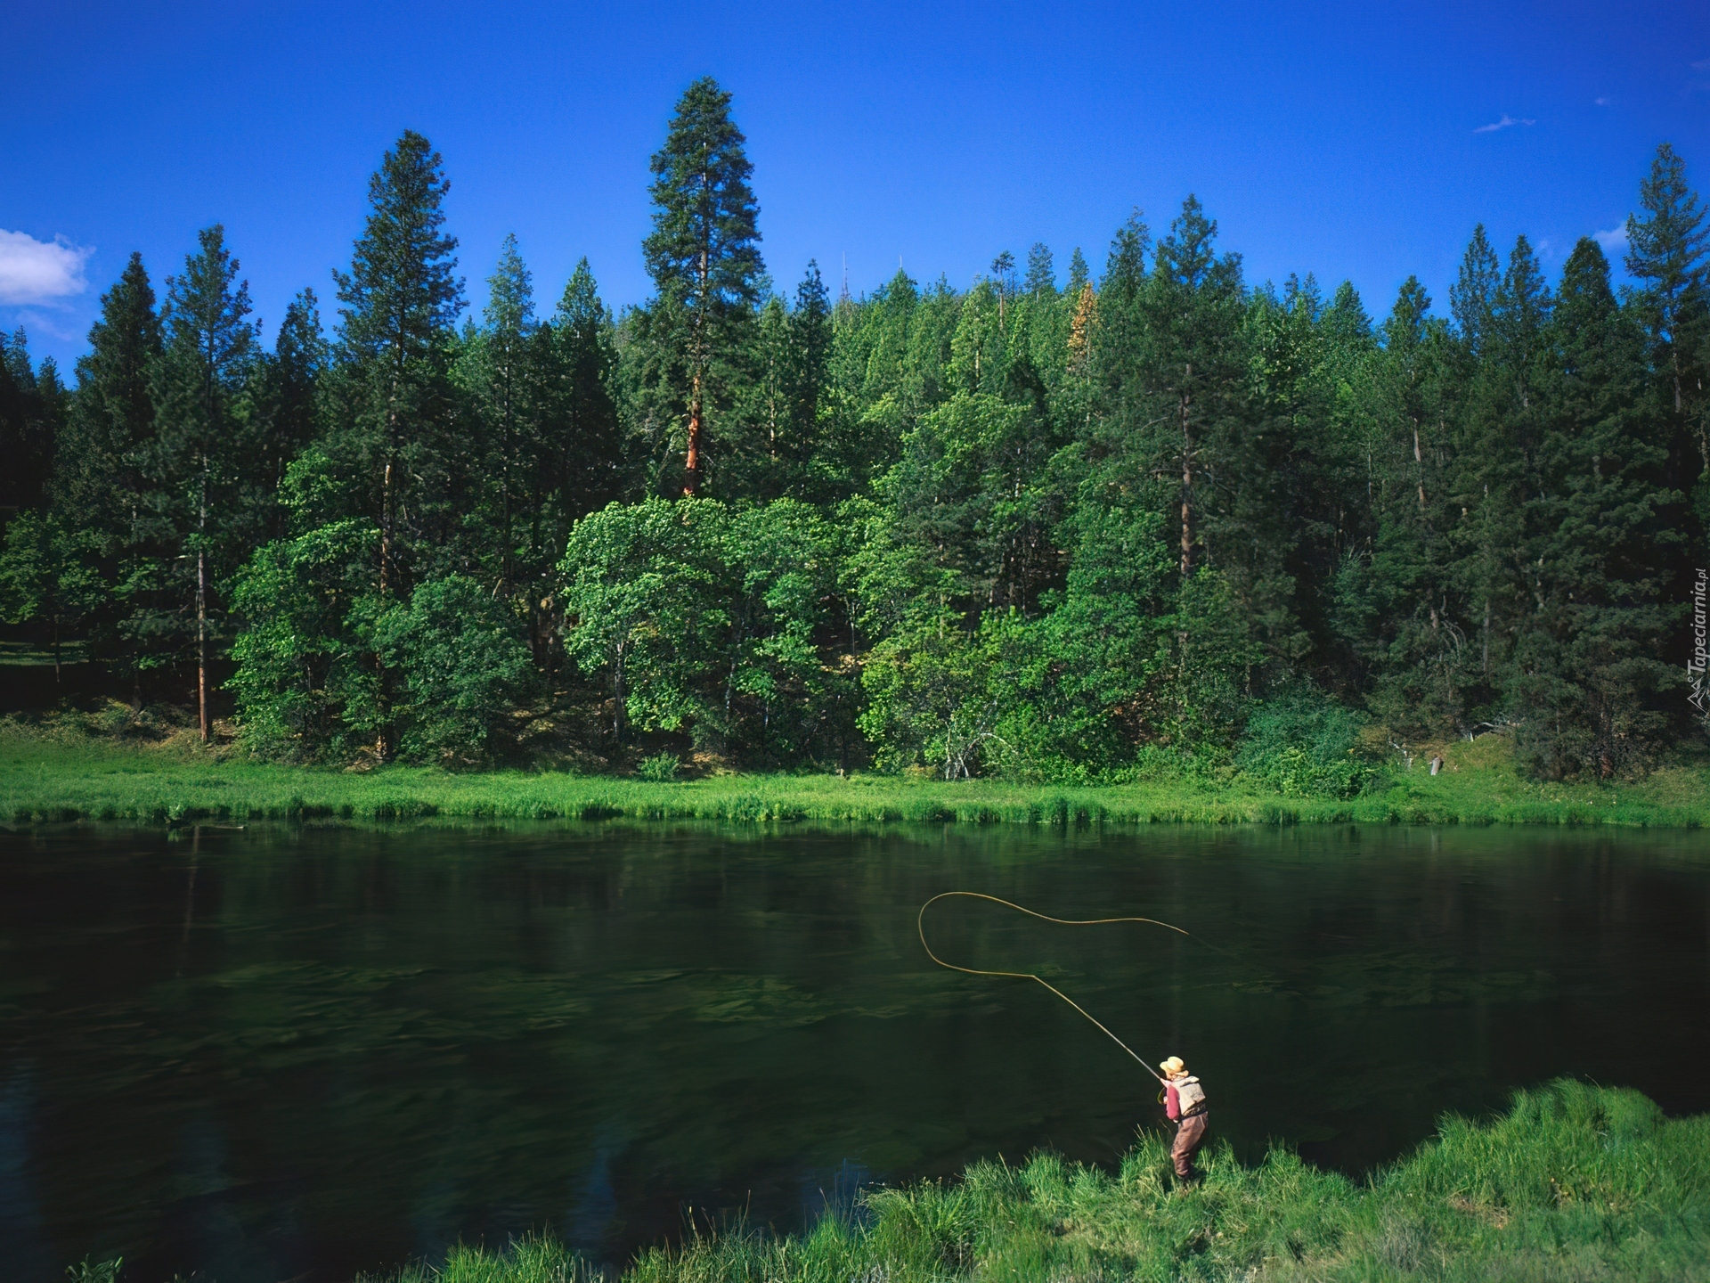
<path id="1" fill-rule="evenodd" d="M 638 303 L 648 156 L 703 74 L 735 94 L 785 289 L 811 257 L 857 294 L 898 262 L 964 286 L 1033 241 L 1098 270 L 1130 209 L 1159 228 L 1194 192 L 1250 281 L 1351 279 L 1382 313 L 1416 272 L 1442 311 L 1479 221 L 1560 267 L 1664 139 L 1710 190 L 1701 2 L 0 0 L 0 325 L 67 364 L 132 250 L 159 286 L 215 221 L 268 337 L 303 286 L 330 323 L 404 128 L 445 156 L 477 304 L 508 231 L 542 311 L 581 255 Z"/>

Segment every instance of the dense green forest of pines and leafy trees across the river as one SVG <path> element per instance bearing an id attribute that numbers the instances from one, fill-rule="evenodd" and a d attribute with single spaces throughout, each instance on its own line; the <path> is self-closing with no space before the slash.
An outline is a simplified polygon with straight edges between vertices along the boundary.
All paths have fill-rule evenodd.
<path id="1" fill-rule="evenodd" d="M 621 311 L 587 260 L 537 299 L 515 238 L 472 301 L 405 132 L 270 349 L 219 224 L 159 286 L 132 255 L 70 378 L 5 339 L 7 624 L 303 763 L 1351 797 L 1484 734 L 1553 780 L 1705 751 L 1710 226 L 1667 144 L 1630 284 L 1481 226 L 1447 316 L 1252 284 L 1194 197 L 1096 274 L 780 286 L 711 79 L 650 173 Z"/>

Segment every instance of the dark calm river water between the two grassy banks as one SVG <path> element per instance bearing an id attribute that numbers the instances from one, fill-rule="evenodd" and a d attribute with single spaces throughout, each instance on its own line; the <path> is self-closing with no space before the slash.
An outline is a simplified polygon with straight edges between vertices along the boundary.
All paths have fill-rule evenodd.
<path id="1" fill-rule="evenodd" d="M 0 1261 L 345 1280 L 869 1180 L 1110 1163 L 1185 1055 L 1212 1132 L 1358 1172 L 1585 1074 L 1710 1109 L 1710 840 L 1524 830 L 0 833 Z M 696 1215 L 701 1215 L 699 1211 Z"/>

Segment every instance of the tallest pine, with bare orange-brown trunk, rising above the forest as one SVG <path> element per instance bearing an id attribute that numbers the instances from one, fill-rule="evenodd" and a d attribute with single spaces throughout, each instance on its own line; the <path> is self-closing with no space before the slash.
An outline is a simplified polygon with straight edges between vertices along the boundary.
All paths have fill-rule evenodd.
<path id="1" fill-rule="evenodd" d="M 665 414 L 686 423 L 682 493 L 701 489 L 708 421 L 730 404 L 759 301 L 759 207 L 730 94 L 711 77 L 684 91 L 653 154 L 653 231 L 641 243 L 658 298 L 645 340 Z"/>

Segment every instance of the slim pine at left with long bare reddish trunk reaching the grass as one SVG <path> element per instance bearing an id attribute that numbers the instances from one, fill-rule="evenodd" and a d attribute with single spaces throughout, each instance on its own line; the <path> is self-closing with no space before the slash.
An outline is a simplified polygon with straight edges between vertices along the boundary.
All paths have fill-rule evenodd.
<path id="1" fill-rule="evenodd" d="M 241 546 L 234 553 L 222 535 L 241 522 L 236 505 L 253 462 L 238 400 L 256 347 L 246 320 L 250 287 L 238 281 L 226 229 L 214 224 L 197 239 L 202 248 L 185 258 L 183 275 L 168 279 L 166 342 L 152 378 L 159 436 L 149 470 L 159 488 L 159 529 L 169 547 L 183 549 L 178 565 L 195 563 L 197 720 L 207 742 L 210 611 L 217 580 L 248 553 Z M 168 566 L 161 570 L 173 578 Z"/>

